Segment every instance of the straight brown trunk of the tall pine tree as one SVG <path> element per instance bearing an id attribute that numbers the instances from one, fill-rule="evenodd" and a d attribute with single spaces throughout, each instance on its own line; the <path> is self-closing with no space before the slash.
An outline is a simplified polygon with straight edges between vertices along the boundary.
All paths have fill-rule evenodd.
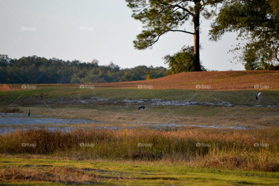
<path id="1" fill-rule="evenodd" d="M 196 4 L 198 1 L 195 2 Z M 194 16 L 194 54 L 195 54 L 195 62 L 194 67 L 195 71 L 201 71 L 201 64 L 200 64 L 200 9 L 196 6 L 195 9 L 195 16 Z"/>

